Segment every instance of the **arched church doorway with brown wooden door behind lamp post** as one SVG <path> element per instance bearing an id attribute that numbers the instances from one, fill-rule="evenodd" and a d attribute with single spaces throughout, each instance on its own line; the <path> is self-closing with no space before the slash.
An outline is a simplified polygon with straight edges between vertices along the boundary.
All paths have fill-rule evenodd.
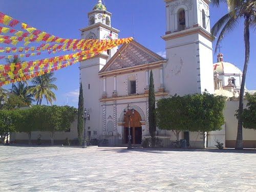
<path id="1" fill-rule="evenodd" d="M 132 111 L 127 111 L 126 113 L 131 113 Z M 128 135 L 129 135 L 129 117 L 124 117 L 124 143 L 128 143 Z M 142 139 L 142 126 L 141 126 L 141 116 L 139 112 L 134 111 L 134 115 L 130 118 L 130 127 L 131 127 L 131 143 L 132 144 L 141 144 Z"/>

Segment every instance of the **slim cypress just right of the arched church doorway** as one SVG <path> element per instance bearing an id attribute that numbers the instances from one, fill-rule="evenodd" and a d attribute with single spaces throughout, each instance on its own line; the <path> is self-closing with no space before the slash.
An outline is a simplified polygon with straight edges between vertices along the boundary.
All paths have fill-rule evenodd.
<path id="1" fill-rule="evenodd" d="M 156 143 L 156 98 L 155 98 L 155 87 L 154 87 L 154 78 L 153 72 L 150 72 L 150 88 L 148 90 L 148 124 L 150 127 L 151 143 L 152 147 L 155 147 Z"/>

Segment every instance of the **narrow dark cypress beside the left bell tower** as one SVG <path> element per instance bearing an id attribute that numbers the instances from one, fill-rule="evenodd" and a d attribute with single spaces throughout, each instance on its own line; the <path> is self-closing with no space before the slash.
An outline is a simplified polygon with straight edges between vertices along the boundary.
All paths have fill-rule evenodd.
<path id="1" fill-rule="evenodd" d="M 80 83 L 79 100 L 78 100 L 78 115 L 77 115 L 77 133 L 78 133 L 78 143 L 80 146 L 82 145 L 83 127 L 84 127 L 83 93 L 82 93 L 82 83 Z"/>

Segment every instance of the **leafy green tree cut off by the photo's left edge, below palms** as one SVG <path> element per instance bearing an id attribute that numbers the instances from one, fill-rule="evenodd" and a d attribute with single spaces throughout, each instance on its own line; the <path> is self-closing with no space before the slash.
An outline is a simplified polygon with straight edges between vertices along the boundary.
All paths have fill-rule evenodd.
<path id="1" fill-rule="evenodd" d="M 13 123 L 13 111 L 11 110 L 0 110 L 0 136 L 2 142 L 5 143 L 5 139 L 8 138 L 11 132 L 15 131 Z"/>

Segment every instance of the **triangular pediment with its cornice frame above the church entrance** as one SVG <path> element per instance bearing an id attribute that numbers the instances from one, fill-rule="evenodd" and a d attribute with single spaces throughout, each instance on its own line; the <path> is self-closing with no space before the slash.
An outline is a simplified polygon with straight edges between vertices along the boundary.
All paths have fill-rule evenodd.
<path id="1" fill-rule="evenodd" d="M 119 51 L 117 51 L 116 54 L 114 54 L 100 70 L 100 73 L 139 66 L 145 63 L 153 63 L 161 60 L 165 60 L 165 58 L 133 40 L 129 44 L 122 45 Z"/>

